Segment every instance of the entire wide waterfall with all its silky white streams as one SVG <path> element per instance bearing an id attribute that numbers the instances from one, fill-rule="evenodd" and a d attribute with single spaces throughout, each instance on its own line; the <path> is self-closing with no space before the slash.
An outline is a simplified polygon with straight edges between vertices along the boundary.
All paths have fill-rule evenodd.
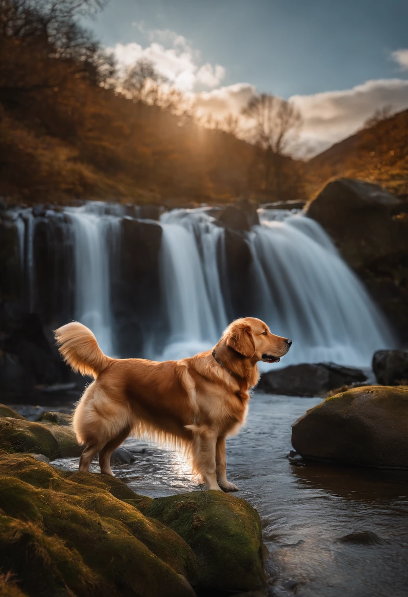
<path id="1" fill-rule="evenodd" d="M 162 360 L 210 349 L 229 319 L 246 315 L 258 316 L 274 333 L 292 338 L 292 349 L 279 364 L 282 367 L 319 361 L 366 367 L 375 350 L 395 346 L 387 322 L 330 238 L 316 221 L 301 214 L 259 210 L 261 225 L 251 232 L 234 233 L 251 258 L 248 283 L 243 285 L 248 307 L 241 313 L 231 310 L 228 296 L 230 240 L 208 209 L 172 210 L 162 214 L 159 224 L 141 220 L 138 210 L 129 213 L 125 206 L 103 202 L 51 213 L 43 214 L 42 222 L 46 226 L 59 222 L 72 244 L 72 257 L 66 257 L 73 260 L 72 318 L 94 331 L 107 354 L 120 356 L 118 321 L 122 327 L 125 322 L 125 328 L 129 327 L 126 322 L 135 321 L 131 346 L 144 334 L 144 349 L 135 356 Z M 36 218 L 31 210 L 24 210 L 14 219 L 29 303 L 34 308 Z M 128 303 L 128 310 L 123 311 L 120 296 L 112 294 L 112 272 L 116 294 L 122 291 L 121 285 L 133 285 L 126 295 L 131 298 L 133 292 L 143 293 L 149 287 L 145 278 L 129 280 L 120 273 L 126 260 L 140 260 L 126 247 L 120 248 L 124 219 L 146 226 L 138 245 L 144 251 L 146 244 L 146 254 L 152 229 L 162 229 L 156 264 L 149 262 L 143 270 L 145 278 L 156 275 L 161 288 L 151 297 L 157 303 L 154 320 L 163 317 L 162 329 L 156 327 L 153 342 L 149 338 L 152 320 L 136 309 L 129 312 Z M 240 276 L 239 260 L 234 265 L 234 275 Z M 152 274 L 153 267 L 156 273 Z M 129 338 L 127 342 L 129 346 Z M 261 367 L 264 371 L 271 368 Z"/>

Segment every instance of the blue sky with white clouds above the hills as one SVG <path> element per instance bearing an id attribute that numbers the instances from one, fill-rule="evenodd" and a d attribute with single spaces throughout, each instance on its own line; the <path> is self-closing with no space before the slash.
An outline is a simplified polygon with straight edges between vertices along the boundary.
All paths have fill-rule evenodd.
<path id="1" fill-rule="evenodd" d="M 86 25 L 121 67 L 147 57 L 216 118 L 255 93 L 293 101 L 302 151 L 408 107 L 407 0 L 110 0 Z"/>

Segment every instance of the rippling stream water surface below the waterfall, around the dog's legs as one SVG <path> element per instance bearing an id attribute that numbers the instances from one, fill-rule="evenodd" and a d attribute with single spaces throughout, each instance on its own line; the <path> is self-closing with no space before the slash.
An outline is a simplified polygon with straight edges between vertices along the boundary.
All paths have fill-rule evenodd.
<path id="1" fill-rule="evenodd" d="M 408 471 L 290 464 L 290 426 L 319 402 L 255 393 L 246 426 L 227 440 L 228 478 L 258 510 L 270 550 L 267 595 L 406 596 Z M 115 474 L 137 493 L 200 489 L 171 450 L 135 439 L 125 446 L 136 461 Z M 76 469 L 78 458 L 57 464 Z M 338 541 L 356 531 L 373 531 L 381 544 Z"/>

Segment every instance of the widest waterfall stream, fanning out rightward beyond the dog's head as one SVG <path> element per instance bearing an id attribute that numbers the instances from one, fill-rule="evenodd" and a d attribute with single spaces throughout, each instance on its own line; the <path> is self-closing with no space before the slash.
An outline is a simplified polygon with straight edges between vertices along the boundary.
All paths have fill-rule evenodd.
<path id="1" fill-rule="evenodd" d="M 367 366 L 376 349 L 395 345 L 384 317 L 316 221 L 295 215 L 261 222 L 251 238 L 254 277 L 262 288 L 260 316 L 293 340 L 282 366 Z"/>

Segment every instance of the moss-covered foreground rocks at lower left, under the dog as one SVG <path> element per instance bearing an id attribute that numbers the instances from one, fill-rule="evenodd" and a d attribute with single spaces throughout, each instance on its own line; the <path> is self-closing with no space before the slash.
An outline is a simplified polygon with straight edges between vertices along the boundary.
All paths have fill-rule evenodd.
<path id="1" fill-rule="evenodd" d="M 66 419 L 0 414 L 2 595 L 182 597 L 264 584 L 261 523 L 245 500 L 218 491 L 153 500 L 115 477 L 55 469 L 39 454 L 64 453 Z"/>

